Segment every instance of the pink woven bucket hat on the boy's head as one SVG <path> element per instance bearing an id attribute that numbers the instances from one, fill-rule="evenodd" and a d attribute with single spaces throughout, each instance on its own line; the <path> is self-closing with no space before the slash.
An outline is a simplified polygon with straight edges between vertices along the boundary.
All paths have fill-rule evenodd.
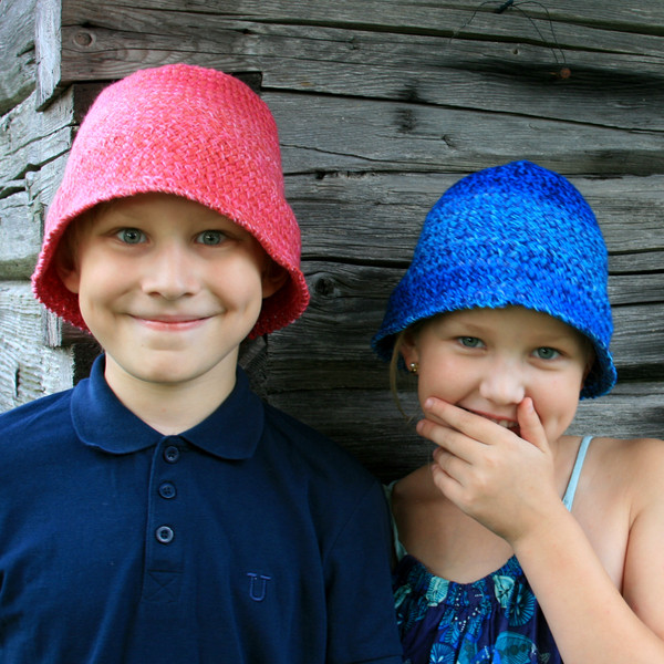
<path id="1" fill-rule="evenodd" d="M 53 264 L 62 234 L 98 203 L 151 191 L 228 217 L 288 271 L 288 282 L 263 300 L 251 338 L 302 314 L 309 291 L 300 270 L 300 228 L 284 198 L 274 118 L 245 83 L 187 64 L 135 72 L 106 87 L 90 108 L 46 215 L 32 276 L 37 299 L 86 330 L 77 297 Z"/>

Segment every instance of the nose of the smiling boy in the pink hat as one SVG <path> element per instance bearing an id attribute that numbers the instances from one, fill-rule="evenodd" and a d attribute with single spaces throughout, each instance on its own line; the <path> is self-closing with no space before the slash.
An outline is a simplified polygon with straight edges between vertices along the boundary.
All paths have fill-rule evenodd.
<path id="1" fill-rule="evenodd" d="M 195 293 L 198 279 L 187 249 L 176 243 L 155 249 L 145 264 L 143 290 L 166 300 Z"/>

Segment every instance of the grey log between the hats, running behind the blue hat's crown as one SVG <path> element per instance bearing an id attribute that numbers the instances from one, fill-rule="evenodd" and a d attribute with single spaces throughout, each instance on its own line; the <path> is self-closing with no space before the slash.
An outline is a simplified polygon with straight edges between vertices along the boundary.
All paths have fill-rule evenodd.
<path id="1" fill-rule="evenodd" d="M 611 255 L 610 270 L 652 272 L 656 280 L 664 269 L 664 175 L 611 179 L 570 175 L 580 169 L 570 156 L 561 173 L 595 211 Z M 323 172 L 288 176 L 287 196 L 302 229 L 304 258 L 405 268 L 426 212 L 464 175 Z"/>

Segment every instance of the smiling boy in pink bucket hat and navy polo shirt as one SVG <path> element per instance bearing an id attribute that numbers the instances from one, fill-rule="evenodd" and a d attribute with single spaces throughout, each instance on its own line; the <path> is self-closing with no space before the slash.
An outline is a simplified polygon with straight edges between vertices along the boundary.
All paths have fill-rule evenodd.
<path id="1" fill-rule="evenodd" d="M 168 65 L 100 95 L 33 287 L 104 355 L 0 417 L 0 661 L 401 662 L 380 486 L 237 366 L 304 310 L 299 259 L 246 85 Z"/>

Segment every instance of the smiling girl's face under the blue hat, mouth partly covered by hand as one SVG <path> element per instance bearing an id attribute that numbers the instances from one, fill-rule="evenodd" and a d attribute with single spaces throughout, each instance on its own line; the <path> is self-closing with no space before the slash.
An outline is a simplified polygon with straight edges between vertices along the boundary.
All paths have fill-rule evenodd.
<path id="1" fill-rule="evenodd" d="M 571 424 L 593 359 L 577 330 L 521 307 L 442 314 L 401 352 L 418 365 L 421 404 L 436 396 L 519 433 L 517 405 L 529 396 L 549 442 Z"/>

